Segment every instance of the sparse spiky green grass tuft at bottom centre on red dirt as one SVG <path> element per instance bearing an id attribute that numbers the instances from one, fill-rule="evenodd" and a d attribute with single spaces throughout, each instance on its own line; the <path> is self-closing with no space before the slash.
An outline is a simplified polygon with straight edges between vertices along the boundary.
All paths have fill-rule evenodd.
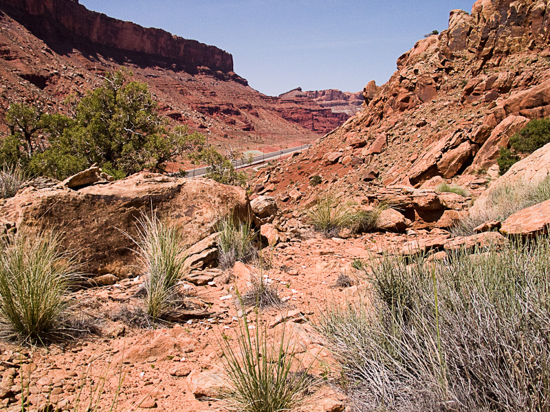
<path id="1" fill-rule="evenodd" d="M 243 308 L 243 312 L 244 308 Z M 270 342 L 274 336 L 267 323 L 249 323 L 246 316 L 239 321 L 235 340 L 225 334 L 221 350 L 228 375 L 221 396 L 227 409 L 243 412 L 291 411 L 303 402 L 312 382 L 311 365 L 294 356 L 296 336 L 289 335 L 286 324 L 281 328 L 281 341 Z"/>

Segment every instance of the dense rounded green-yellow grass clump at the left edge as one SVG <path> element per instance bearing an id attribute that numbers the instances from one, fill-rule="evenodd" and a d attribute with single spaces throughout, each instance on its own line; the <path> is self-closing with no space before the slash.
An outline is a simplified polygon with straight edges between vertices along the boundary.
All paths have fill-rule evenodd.
<path id="1" fill-rule="evenodd" d="M 53 234 L 19 230 L 0 244 L 0 322 L 25 342 L 50 339 L 69 308 L 75 265 Z"/>

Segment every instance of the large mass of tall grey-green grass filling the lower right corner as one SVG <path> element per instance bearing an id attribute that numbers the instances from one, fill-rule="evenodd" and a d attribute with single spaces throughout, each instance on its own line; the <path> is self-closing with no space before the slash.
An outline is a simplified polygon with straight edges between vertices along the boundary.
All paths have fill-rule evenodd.
<path id="1" fill-rule="evenodd" d="M 372 297 L 318 325 L 357 410 L 550 410 L 547 239 L 367 272 Z"/>

